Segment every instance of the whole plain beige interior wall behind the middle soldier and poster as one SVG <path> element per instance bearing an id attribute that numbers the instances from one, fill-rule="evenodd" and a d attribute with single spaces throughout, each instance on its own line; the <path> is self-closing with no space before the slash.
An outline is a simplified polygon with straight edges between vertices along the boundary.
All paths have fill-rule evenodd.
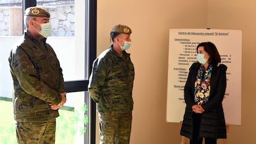
<path id="1" fill-rule="evenodd" d="M 165 122 L 169 28 L 242 30 L 242 125 L 230 125 L 228 143 L 255 143 L 255 6 L 254 0 L 98 0 L 98 54 L 108 48 L 113 25 L 126 24 L 133 31 L 129 49 L 135 65 L 130 144 L 181 142 L 180 125 Z"/>

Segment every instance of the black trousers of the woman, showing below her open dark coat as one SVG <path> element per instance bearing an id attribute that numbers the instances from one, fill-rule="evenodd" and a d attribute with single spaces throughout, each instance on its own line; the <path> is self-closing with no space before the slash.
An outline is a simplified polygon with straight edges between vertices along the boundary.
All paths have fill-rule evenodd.
<path id="1" fill-rule="evenodd" d="M 202 144 L 203 138 L 199 138 L 199 129 L 201 123 L 202 114 L 193 113 L 193 137 L 190 140 L 190 144 Z M 216 144 L 217 140 L 213 138 L 205 137 L 205 144 Z"/>

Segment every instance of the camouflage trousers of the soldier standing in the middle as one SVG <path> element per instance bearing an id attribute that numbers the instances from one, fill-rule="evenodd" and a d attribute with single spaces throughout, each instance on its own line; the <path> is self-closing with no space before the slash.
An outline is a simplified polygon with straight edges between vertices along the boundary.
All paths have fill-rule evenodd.
<path id="1" fill-rule="evenodd" d="M 100 144 L 129 144 L 132 113 L 99 114 Z"/>

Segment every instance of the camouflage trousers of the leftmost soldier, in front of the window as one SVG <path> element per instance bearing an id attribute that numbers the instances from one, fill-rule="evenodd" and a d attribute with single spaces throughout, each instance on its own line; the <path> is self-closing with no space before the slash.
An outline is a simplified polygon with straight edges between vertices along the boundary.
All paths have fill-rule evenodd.
<path id="1" fill-rule="evenodd" d="M 54 144 L 56 121 L 16 122 L 16 137 L 19 144 Z"/>

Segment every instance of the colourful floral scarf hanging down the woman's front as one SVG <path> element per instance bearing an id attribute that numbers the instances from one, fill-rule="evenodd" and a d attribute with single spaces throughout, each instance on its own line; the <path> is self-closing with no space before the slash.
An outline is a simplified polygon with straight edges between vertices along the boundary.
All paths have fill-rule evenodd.
<path id="1" fill-rule="evenodd" d="M 200 66 L 197 72 L 197 79 L 195 80 L 195 103 L 198 105 L 202 105 L 208 102 L 210 95 L 210 79 L 211 79 L 211 71 L 213 70 L 213 66 L 209 64 L 207 70 Z"/>

